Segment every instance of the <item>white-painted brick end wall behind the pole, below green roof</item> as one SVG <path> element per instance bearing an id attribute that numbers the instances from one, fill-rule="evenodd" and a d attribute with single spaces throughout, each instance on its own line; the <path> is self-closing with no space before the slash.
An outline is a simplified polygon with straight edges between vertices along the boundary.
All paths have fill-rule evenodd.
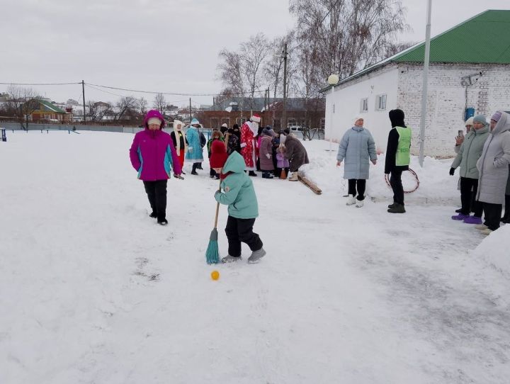
<path id="1" fill-rule="evenodd" d="M 482 72 L 482 76 L 479 73 Z M 466 87 L 462 77 L 475 83 Z M 399 64 L 397 105 L 406 115 L 406 124 L 413 129 L 412 153 L 419 153 L 421 89 L 423 66 Z M 468 81 L 468 80 L 467 80 Z M 425 154 L 451 157 L 458 130 L 464 129 L 465 108 L 475 114 L 490 115 L 510 110 L 510 66 L 494 64 L 431 64 L 429 67 L 425 133 Z"/>

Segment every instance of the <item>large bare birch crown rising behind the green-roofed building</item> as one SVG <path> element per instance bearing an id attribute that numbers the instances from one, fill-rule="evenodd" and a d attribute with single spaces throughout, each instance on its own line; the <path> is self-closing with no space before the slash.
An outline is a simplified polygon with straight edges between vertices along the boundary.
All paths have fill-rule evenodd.
<path id="1" fill-rule="evenodd" d="M 317 77 L 344 79 L 382 60 L 404 22 L 401 0 L 290 0 L 297 17 L 298 45 L 321 52 L 314 62 Z"/>

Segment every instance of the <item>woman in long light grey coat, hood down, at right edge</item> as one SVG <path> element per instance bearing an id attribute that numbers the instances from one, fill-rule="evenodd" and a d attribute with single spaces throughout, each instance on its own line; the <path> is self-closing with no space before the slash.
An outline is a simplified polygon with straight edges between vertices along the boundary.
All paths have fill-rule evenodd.
<path id="1" fill-rule="evenodd" d="M 491 132 L 485 142 L 482 156 L 477 162 L 477 200 L 483 203 L 485 223 L 477 225 L 483 235 L 499 228 L 503 210 L 506 180 L 510 164 L 510 115 L 497 111 L 490 122 Z"/>

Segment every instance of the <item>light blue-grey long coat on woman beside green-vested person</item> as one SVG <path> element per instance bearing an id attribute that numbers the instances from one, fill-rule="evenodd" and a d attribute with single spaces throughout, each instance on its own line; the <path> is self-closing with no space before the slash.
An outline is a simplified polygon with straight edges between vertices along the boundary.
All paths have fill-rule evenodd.
<path id="1" fill-rule="evenodd" d="M 377 160 L 375 142 L 370 131 L 353 127 L 344 133 L 336 155 L 344 162 L 344 179 L 368 179 L 370 160 Z"/>

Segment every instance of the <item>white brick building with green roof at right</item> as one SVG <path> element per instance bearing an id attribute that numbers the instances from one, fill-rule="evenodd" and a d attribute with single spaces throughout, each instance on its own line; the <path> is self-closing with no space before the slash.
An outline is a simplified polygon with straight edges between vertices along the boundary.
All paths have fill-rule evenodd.
<path id="1" fill-rule="evenodd" d="M 431 39 L 425 154 L 453 155 L 466 116 L 510 109 L 510 11 L 485 11 Z M 400 108 L 419 151 L 424 43 L 363 69 L 326 94 L 325 137 L 339 140 L 363 115 L 376 145 L 386 149 L 388 112 Z"/>

